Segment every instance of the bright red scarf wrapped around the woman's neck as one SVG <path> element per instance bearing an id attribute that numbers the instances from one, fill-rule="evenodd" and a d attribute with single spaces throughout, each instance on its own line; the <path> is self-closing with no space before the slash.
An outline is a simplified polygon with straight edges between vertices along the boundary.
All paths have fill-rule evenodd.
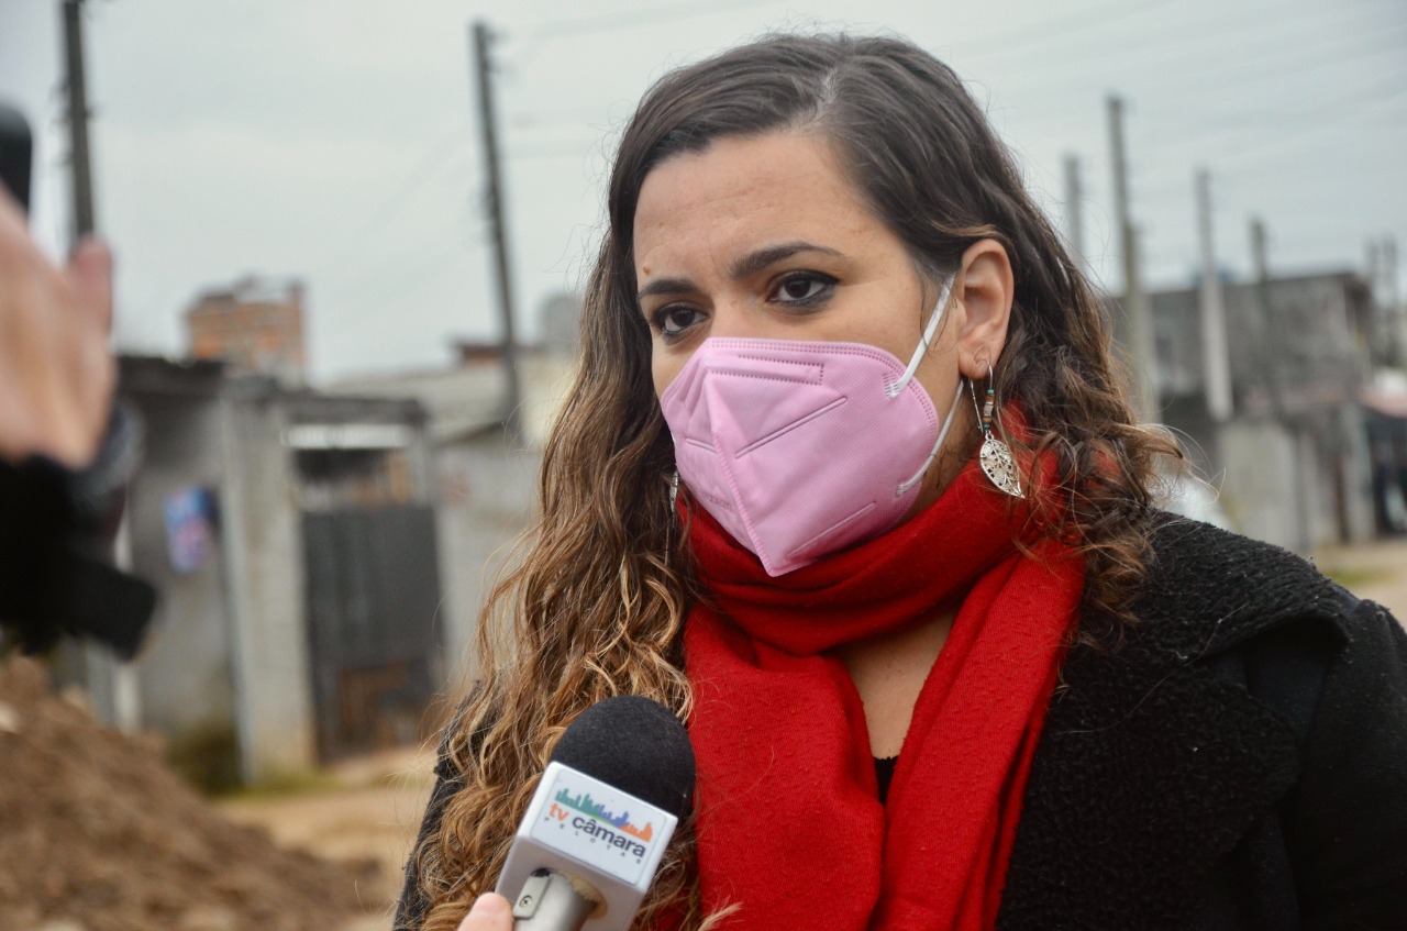
<path id="1" fill-rule="evenodd" d="M 996 918 L 1083 561 L 1012 543 L 975 463 L 893 530 L 779 578 L 702 509 L 713 608 L 684 636 L 698 858 L 730 931 L 979 931 Z M 825 651 L 961 599 L 881 806 L 864 707 Z"/>

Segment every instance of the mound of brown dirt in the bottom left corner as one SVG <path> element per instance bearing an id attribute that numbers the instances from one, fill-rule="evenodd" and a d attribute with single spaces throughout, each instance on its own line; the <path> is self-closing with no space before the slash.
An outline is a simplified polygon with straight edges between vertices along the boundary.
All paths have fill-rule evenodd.
<path id="1" fill-rule="evenodd" d="M 0 661 L 0 928 L 338 928 L 374 869 L 231 824 L 153 748 L 49 695 L 38 665 Z"/>

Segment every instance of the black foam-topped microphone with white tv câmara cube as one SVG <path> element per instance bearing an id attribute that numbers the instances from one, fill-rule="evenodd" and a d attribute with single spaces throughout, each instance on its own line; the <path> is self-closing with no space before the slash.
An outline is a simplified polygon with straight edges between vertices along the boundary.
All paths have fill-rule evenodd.
<path id="1" fill-rule="evenodd" d="M 495 892 L 518 931 L 626 931 L 694 800 L 694 748 L 658 702 L 597 702 L 563 733 Z"/>

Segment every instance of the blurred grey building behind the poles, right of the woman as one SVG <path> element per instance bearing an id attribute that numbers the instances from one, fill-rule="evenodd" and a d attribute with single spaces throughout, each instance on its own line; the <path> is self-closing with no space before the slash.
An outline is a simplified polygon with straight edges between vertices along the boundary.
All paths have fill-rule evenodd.
<path id="1" fill-rule="evenodd" d="M 1361 390 L 1380 314 L 1352 271 L 1223 287 L 1230 412 L 1207 397 L 1197 287 L 1150 295 L 1161 420 L 1242 533 L 1299 551 L 1375 533 Z"/>

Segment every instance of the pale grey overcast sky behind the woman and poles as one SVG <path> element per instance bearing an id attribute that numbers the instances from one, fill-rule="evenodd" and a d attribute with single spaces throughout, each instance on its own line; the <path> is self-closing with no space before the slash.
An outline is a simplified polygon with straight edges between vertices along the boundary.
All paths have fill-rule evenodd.
<path id="1" fill-rule="evenodd" d="M 1218 259 L 1407 270 L 1401 0 L 101 0 L 87 21 L 97 217 L 120 253 L 118 338 L 179 353 L 180 314 L 246 273 L 308 285 L 315 377 L 433 366 L 497 333 L 467 28 L 498 31 L 521 329 L 580 285 L 606 158 L 670 68 L 770 30 L 909 37 L 951 63 L 1062 222 L 1083 165 L 1086 253 L 1119 287 L 1106 96 L 1127 100 L 1133 210 L 1154 284 L 1197 263 L 1193 172 Z M 58 0 L 0 0 L 0 100 L 38 139 L 34 225 L 66 242 Z M 1407 273 L 1399 280 L 1407 288 Z M 1233 345 L 1233 352 L 1235 346 Z"/>

